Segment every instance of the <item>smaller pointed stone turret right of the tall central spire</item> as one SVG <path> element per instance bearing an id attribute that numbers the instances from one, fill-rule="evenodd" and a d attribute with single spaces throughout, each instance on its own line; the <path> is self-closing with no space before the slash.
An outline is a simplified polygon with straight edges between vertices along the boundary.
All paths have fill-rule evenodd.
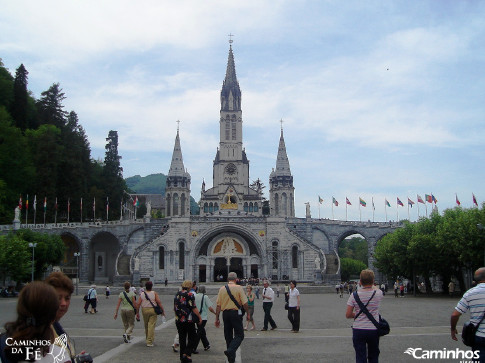
<path id="1" fill-rule="evenodd" d="M 279 217 L 295 216 L 295 188 L 291 175 L 290 162 L 286 154 L 283 127 L 281 127 L 278 157 L 276 158 L 276 170 L 273 169 L 269 176 L 269 202 L 271 215 Z"/>

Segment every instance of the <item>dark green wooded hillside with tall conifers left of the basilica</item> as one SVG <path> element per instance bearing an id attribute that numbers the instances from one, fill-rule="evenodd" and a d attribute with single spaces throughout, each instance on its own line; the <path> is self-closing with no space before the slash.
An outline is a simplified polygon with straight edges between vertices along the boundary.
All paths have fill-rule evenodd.
<path id="1" fill-rule="evenodd" d="M 93 160 L 88 137 L 75 111 L 67 111 L 59 83 L 36 99 L 28 71 L 15 75 L 0 59 L 0 224 L 10 224 L 21 207 L 22 223 L 117 219 L 126 188 L 118 155 L 118 134 L 107 132 L 105 160 Z M 34 203 L 36 202 L 36 203 Z M 96 217 L 98 218 L 98 217 Z"/>

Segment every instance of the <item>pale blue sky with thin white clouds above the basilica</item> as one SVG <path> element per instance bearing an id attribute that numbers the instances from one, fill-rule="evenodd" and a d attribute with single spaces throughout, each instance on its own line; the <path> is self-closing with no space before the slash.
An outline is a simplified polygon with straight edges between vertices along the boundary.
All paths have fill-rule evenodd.
<path id="1" fill-rule="evenodd" d="M 467 208 L 472 193 L 485 199 L 485 2 L 0 5 L 4 65 L 25 65 L 36 98 L 60 83 L 93 157 L 117 130 L 125 177 L 168 173 L 180 120 L 192 196 L 203 178 L 211 186 L 231 33 L 250 178 L 268 184 L 283 119 L 297 216 L 310 202 L 313 217 L 332 218 L 332 197 L 344 220 L 346 197 L 349 220 L 372 220 L 373 199 L 376 221 L 408 218 L 417 194 L 433 193 L 440 211 L 455 193 Z"/>

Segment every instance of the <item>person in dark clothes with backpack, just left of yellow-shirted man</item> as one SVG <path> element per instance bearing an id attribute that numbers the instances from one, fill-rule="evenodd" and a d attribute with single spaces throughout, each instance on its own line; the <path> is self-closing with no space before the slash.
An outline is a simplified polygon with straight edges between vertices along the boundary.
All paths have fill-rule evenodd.
<path id="1" fill-rule="evenodd" d="M 185 280 L 182 283 L 182 289 L 177 292 L 173 300 L 182 363 L 192 362 L 191 356 L 197 342 L 195 323 L 202 324 L 202 318 L 195 304 L 195 295 L 189 291 L 191 288 L 192 281 Z"/>

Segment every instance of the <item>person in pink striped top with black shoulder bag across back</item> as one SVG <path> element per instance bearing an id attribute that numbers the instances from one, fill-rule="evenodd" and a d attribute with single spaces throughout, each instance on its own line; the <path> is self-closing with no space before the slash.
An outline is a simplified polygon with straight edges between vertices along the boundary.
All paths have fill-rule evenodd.
<path id="1" fill-rule="evenodd" d="M 377 363 L 379 361 L 379 334 L 376 326 L 362 312 L 356 301 L 356 295 L 367 307 L 372 316 L 379 321 L 379 305 L 382 300 L 382 291 L 374 287 L 374 271 L 362 270 L 360 272 L 362 287 L 349 296 L 345 317 L 354 319 L 352 326 L 352 341 L 355 349 L 356 363 Z"/>

